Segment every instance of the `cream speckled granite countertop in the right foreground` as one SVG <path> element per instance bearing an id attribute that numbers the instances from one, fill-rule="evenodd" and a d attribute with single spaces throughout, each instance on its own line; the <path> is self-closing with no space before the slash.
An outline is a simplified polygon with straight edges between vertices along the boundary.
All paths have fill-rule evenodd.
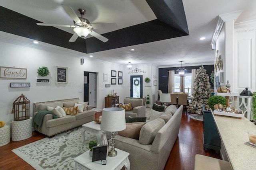
<path id="1" fill-rule="evenodd" d="M 247 132 L 256 132 L 256 125 L 245 117 L 213 117 L 233 170 L 256 169 L 256 148 L 244 144 L 249 141 Z"/>

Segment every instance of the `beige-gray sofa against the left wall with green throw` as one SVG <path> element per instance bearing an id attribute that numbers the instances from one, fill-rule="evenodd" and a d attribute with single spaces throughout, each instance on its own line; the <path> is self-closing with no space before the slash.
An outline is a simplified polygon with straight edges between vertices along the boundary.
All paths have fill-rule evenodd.
<path id="1" fill-rule="evenodd" d="M 39 111 L 46 111 L 47 106 L 54 108 L 57 106 L 74 107 L 74 104 L 78 102 L 79 98 L 34 103 L 34 117 Z M 46 114 L 42 119 L 42 125 L 40 127 L 35 125 L 34 128 L 36 131 L 43 133 L 48 137 L 52 137 L 58 133 L 93 121 L 94 115 L 95 111 L 92 110 L 92 106 L 87 105 L 86 111 L 75 115 L 66 115 L 65 117 L 58 117 L 54 119 L 52 114 Z"/>

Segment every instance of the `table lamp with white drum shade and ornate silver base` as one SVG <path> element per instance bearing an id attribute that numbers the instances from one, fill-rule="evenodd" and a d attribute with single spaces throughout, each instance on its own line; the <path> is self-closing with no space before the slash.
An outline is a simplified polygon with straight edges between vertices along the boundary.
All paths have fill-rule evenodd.
<path id="1" fill-rule="evenodd" d="M 100 123 L 100 129 L 103 131 L 111 132 L 111 149 L 108 151 L 108 156 L 114 157 L 117 155 L 115 150 L 115 137 L 117 131 L 122 131 L 126 128 L 125 124 L 125 112 L 120 107 L 108 107 L 102 110 L 102 118 Z"/>

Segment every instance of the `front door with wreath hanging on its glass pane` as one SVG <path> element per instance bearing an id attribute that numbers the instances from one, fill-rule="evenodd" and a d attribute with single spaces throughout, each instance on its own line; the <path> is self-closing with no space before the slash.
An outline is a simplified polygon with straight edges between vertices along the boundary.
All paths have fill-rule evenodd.
<path id="1" fill-rule="evenodd" d="M 143 76 L 130 76 L 130 97 L 143 98 Z"/>

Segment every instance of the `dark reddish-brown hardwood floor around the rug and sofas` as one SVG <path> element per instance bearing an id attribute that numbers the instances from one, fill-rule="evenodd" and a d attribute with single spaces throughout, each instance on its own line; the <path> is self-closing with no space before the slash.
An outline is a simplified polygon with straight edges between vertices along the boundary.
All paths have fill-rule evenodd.
<path id="1" fill-rule="evenodd" d="M 101 112 L 96 113 L 95 118 L 98 118 L 100 115 Z M 204 150 L 202 133 L 202 121 L 190 119 L 189 115 L 183 113 L 180 132 L 164 170 L 194 170 L 194 158 L 196 154 L 220 159 L 220 154 L 216 154 L 214 150 Z M 14 154 L 12 149 L 27 145 L 45 137 L 45 135 L 33 132 L 32 137 L 29 139 L 23 141 L 10 141 L 9 144 L 0 147 L 0 170 L 34 170 L 32 166 Z"/>

